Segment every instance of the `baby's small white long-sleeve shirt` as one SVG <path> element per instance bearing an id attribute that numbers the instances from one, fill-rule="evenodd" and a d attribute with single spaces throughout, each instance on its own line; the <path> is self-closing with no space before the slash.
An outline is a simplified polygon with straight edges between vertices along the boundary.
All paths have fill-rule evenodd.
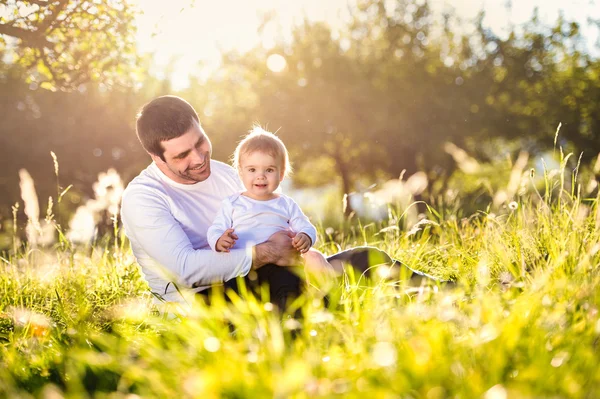
<path id="1" fill-rule="evenodd" d="M 231 228 L 238 236 L 233 247 L 237 249 L 251 248 L 282 230 L 305 233 L 313 245 L 317 240 L 317 230 L 298 204 L 282 194 L 268 201 L 258 201 L 239 193 L 227 197 L 208 229 L 208 245 L 214 250 L 218 239 Z"/>

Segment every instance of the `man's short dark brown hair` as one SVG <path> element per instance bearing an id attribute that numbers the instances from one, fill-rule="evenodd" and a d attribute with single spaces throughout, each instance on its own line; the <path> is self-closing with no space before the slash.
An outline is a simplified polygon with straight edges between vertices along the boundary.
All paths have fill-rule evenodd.
<path id="1" fill-rule="evenodd" d="M 164 161 L 161 141 L 182 136 L 191 129 L 194 121 L 200 123 L 198 114 L 183 98 L 158 97 L 144 105 L 138 113 L 137 136 L 147 152 L 159 156 Z"/>

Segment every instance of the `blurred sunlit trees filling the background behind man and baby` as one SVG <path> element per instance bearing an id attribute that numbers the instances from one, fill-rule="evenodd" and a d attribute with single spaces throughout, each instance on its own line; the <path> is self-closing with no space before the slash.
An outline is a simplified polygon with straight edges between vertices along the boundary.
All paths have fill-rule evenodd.
<path id="1" fill-rule="evenodd" d="M 584 164 L 597 156 L 600 60 L 584 48 L 578 23 L 561 17 L 546 25 L 534 14 L 501 38 L 483 26 L 483 13 L 471 21 L 475 34 L 466 34 L 457 15 L 435 18 L 424 0 L 352 4 L 342 27 L 306 19 L 272 48 L 224 51 L 218 69 L 175 90 L 168 73 L 154 76 L 149 57 L 138 54 L 135 10 L 126 2 L 7 2 L 0 14 L 2 215 L 19 201 L 20 168 L 33 176 L 42 206 L 57 185 L 73 184 L 66 214 L 92 195 L 99 172 L 114 167 L 126 181 L 135 176 L 149 162 L 135 114 L 162 94 L 196 107 L 216 159 L 227 161 L 259 123 L 288 145 L 297 185 L 335 183 L 340 199 L 404 170 L 427 174 L 430 197 L 469 176 L 463 188 L 480 196 L 486 188 L 478 174 L 497 178 L 496 167 L 465 172 L 456 149 L 490 165 L 521 151 L 534 160 L 554 147 L 559 123 L 561 146 L 583 151 Z"/>

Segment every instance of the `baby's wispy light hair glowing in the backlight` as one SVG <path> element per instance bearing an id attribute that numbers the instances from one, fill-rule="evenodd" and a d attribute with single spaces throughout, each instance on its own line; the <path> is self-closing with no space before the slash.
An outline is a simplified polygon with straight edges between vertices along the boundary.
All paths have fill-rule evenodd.
<path id="1" fill-rule="evenodd" d="M 279 163 L 283 176 L 287 177 L 292 173 L 290 157 L 283 141 L 271 132 L 267 132 L 262 127 L 254 125 L 248 134 L 240 141 L 232 156 L 232 165 L 236 170 L 240 170 L 240 158 L 242 155 L 252 154 L 254 152 L 263 152 L 269 154 Z"/>

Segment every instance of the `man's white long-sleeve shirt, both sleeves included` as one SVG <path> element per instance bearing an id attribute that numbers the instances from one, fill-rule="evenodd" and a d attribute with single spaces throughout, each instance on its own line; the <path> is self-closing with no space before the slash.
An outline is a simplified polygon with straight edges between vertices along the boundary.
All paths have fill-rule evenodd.
<path id="1" fill-rule="evenodd" d="M 252 265 L 251 248 L 216 253 L 208 246 L 221 201 L 243 189 L 232 167 L 211 160 L 210 168 L 205 181 L 180 184 L 152 163 L 123 193 L 121 218 L 133 254 L 152 292 L 166 301 L 183 301 L 177 289 L 197 292 L 245 276 Z"/>

